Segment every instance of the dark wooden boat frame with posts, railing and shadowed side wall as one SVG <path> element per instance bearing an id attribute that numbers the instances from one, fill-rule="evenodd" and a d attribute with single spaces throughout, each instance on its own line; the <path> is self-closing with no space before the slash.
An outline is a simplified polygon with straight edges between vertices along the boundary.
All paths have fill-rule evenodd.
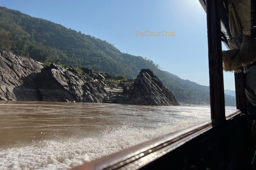
<path id="1" fill-rule="evenodd" d="M 207 2 L 205 2 L 207 1 Z M 237 111 L 225 116 L 221 41 L 228 30 L 227 0 L 199 0 L 207 14 L 212 121 L 124 149 L 74 170 L 253 170 L 256 169 L 256 116 L 248 115 L 243 72 L 235 74 Z M 255 0 L 229 0 L 243 34 L 255 37 Z M 205 5 L 207 3 L 207 5 Z M 224 10 L 224 13 L 223 13 Z M 228 18 L 227 18 L 228 19 Z M 221 21 L 222 20 L 222 21 Z M 226 23 L 225 23 L 226 22 Z M 198 47 L 200 48 L 200 47 Z"/>

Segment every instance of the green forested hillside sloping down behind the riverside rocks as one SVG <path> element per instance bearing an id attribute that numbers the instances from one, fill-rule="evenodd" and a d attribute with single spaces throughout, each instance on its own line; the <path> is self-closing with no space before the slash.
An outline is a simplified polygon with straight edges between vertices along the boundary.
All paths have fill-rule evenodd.
<path id="1" fill-rule="evenodd" d="M 107 41 L 5 7 L 0 7 L 0 48 L 40 62 L 87 67 L 127 78 L 136 78 L 140 69 L 150 68 L 179 102 L 209 104 L 210 101 L 208 86 L 162 71 L 150 59 L 123 53 Z M 227 98 L 226 104 L 235 105 L 234 97 Z"/>

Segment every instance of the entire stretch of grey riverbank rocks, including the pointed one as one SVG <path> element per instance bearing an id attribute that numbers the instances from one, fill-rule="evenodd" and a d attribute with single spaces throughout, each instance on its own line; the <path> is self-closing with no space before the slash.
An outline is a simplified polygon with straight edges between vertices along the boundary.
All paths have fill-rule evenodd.
<path id="1" fill-rule="evenodd" d="M 53 63 L 43 66 L 0 49 L 0 100 L 179 105 L 150 69 L 142 69 L 135 80 L 126 83 L 107 73 L 104 77 L 87 68 L 81 70 L 84 73 Z"/>

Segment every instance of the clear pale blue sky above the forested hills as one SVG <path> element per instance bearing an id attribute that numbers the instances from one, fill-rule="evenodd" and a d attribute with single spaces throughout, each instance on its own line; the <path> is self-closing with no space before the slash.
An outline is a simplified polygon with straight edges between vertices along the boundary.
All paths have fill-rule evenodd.
<path id="1" fill-rule="evenodd" d="M 209 85 L 206 13 L 198 0 L 1 0 L 0 5 L 114 43 L 182 79 Z M 176 36 L 141 37 L 136 31 Z M 235 89 L 233 73 L 224 73 L 224 88 Z"/>

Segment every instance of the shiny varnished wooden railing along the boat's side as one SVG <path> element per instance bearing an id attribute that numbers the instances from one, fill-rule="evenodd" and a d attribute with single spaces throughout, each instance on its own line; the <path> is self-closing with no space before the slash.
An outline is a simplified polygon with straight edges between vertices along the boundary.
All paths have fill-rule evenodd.
<path id="1" fill-rule="evenodd" d="M 73 168 L 73 170 L 117 170 L 139 169 L 159 157 L 171 152 L 215 126 L 239 118 L 241 112 L 236 110 L 226 117 L 226 121 L 212 123 L 211 120 L 184 128 L 150 141 L 104 156 L 94 161 Z"/>

